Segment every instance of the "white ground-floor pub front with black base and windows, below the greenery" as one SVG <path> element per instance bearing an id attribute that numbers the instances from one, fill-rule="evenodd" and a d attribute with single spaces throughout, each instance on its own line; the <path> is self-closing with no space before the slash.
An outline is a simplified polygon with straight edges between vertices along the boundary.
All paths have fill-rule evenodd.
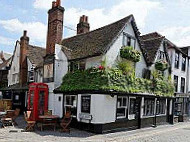
<path id="1" fill-rule="evenodd" d="M 94 133 L 173 124 L 173 99 L 150 94 L 64 94 L 72 126 Z"/>

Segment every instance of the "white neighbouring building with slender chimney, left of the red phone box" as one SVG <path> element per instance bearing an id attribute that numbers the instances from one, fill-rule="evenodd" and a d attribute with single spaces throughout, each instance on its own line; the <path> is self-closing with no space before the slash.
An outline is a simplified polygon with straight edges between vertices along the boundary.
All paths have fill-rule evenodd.
<path id="1" fill-rule="evenodd" d="M 26 109 L 28 85 L 43 80 L 43 57 L 45 49 L 29 44 L 27 31 L 16 42 L 8 71 L 8 86 L 0 90 L 3 99 L 12 100 L 14 108 Z"/>

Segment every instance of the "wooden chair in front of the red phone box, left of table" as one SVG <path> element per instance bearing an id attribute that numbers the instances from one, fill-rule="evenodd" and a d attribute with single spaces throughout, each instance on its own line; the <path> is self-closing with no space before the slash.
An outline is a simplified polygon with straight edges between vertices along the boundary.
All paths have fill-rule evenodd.
<path id="1" fill-rule="evenodd" d="M 31 119 L 31 113 L 32 113 L 32 111 L 27 111 L 27 113 L 24 112 L 24 118 L 25 118 L 25 121 L 27 123 L 25 131 L 27 131 L 27 132 L 34 131 L 34 126 L 36 124 L 36 121 L 33 121 Z"/>

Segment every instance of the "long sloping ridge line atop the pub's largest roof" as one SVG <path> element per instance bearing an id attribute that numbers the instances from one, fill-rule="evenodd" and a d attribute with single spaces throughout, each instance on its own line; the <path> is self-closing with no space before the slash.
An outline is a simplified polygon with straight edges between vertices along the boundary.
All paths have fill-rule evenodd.
<path id="1" fill-rule="evenodd" d="M 94 29 L 94 30 L 89 31 L 89 32 L 87 32 L 87 33 L 81 33 L 81 34 L 74 35 L 74 36 L 71 36 L 71 37 L 68 37 L 68 38 L 64 38 L 64 39 L 62 39 L 62 41 L 68 40 L 68 39 L 70 39 L 70 38 L 78 37 L 78 36 L 84 36 L 84 35 L 90 34 L 90 33 L 92 33 L 92 32 L 96 32 L 96 31 L 101 30 L 101 29 L 103 29 L 103 28 L 105 28 L 105 27 L 108 27 L 108 26 L 110 26 L 110 25 L 112 25 L 112 24 L 116 24 L 117 22 L 120 22 L 120 21 L 122 21 L 122 20 L 125 20 L 125 19 L 127 19 L 127 18 L 129 18 L 129 17 L 133 17 L 133 14 L 130 14 L 130 15 L 128 15 L 128 16 L 126 16 L 126 17 L 120 19 L 120 20 L 117 20 L 117 21 L 112 22 L 112 23 L 110 23 L 110 24 L 104 25 L 104 26 L 102 26 L 102 27 L 100 27 L 100 28 Z"/>

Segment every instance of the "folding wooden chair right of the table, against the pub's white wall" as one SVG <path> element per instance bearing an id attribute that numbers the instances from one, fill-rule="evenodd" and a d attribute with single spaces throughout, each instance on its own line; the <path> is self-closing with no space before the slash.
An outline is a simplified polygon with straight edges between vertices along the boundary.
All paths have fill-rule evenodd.
<path id="1" fill-rule="evenodd" d="M 60 126 L 62 127 L 61 132 L 70 132 L 70 123 L 72 121 L 71 112 L 66 112 L 64 118 L 61 120 Z"/>

